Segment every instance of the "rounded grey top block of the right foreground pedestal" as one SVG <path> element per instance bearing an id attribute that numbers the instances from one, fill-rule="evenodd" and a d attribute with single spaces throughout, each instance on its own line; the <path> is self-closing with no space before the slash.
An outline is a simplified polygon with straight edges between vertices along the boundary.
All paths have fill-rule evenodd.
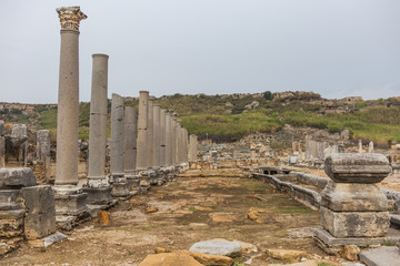
<path id="1" fill-rule="evenodd" d="M 336 153 L 324 162 L 327 175 L 338 183 L 378 183 L 391 173 L 388 158 L 378 153 Z"/>

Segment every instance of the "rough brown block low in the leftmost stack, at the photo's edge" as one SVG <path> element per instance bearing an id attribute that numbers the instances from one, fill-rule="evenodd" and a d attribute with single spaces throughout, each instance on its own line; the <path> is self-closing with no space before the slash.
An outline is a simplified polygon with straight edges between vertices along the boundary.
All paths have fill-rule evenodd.
<path id="1" fill-rule="evenodd" d="M 0 237 L 22 235 L 24 209 L 0 211 Z"/>

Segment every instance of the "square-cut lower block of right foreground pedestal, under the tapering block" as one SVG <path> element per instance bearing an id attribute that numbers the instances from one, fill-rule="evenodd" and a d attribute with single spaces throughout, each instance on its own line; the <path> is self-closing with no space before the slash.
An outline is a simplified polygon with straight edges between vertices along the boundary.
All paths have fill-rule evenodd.
<path id="1" fill-rule="evenodd" d="M 322 227 L 334 237 L 379 237 L 388 233 L 389 212 L 332 212 L 321 207 Z"/>

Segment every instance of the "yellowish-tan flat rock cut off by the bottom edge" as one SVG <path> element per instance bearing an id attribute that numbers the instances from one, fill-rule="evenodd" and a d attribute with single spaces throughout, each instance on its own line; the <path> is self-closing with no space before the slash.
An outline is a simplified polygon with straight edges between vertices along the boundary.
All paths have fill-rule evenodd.
<path id="1" fill-rule="evenodd" d="M 192 256 L 184 253 L 160 253 L 148 255 L 139 266 L 203 266 Z"/>

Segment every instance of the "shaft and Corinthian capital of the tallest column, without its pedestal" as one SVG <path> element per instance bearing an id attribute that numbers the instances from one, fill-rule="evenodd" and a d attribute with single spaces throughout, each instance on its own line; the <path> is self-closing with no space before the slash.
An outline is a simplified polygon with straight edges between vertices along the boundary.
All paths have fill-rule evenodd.
<path id="1" fill-rule="evenodd" d="M 60 76 L 57 112 L 56 185 L 78 184 L 79 7 L 59 8 L 61 23 Z"/>

